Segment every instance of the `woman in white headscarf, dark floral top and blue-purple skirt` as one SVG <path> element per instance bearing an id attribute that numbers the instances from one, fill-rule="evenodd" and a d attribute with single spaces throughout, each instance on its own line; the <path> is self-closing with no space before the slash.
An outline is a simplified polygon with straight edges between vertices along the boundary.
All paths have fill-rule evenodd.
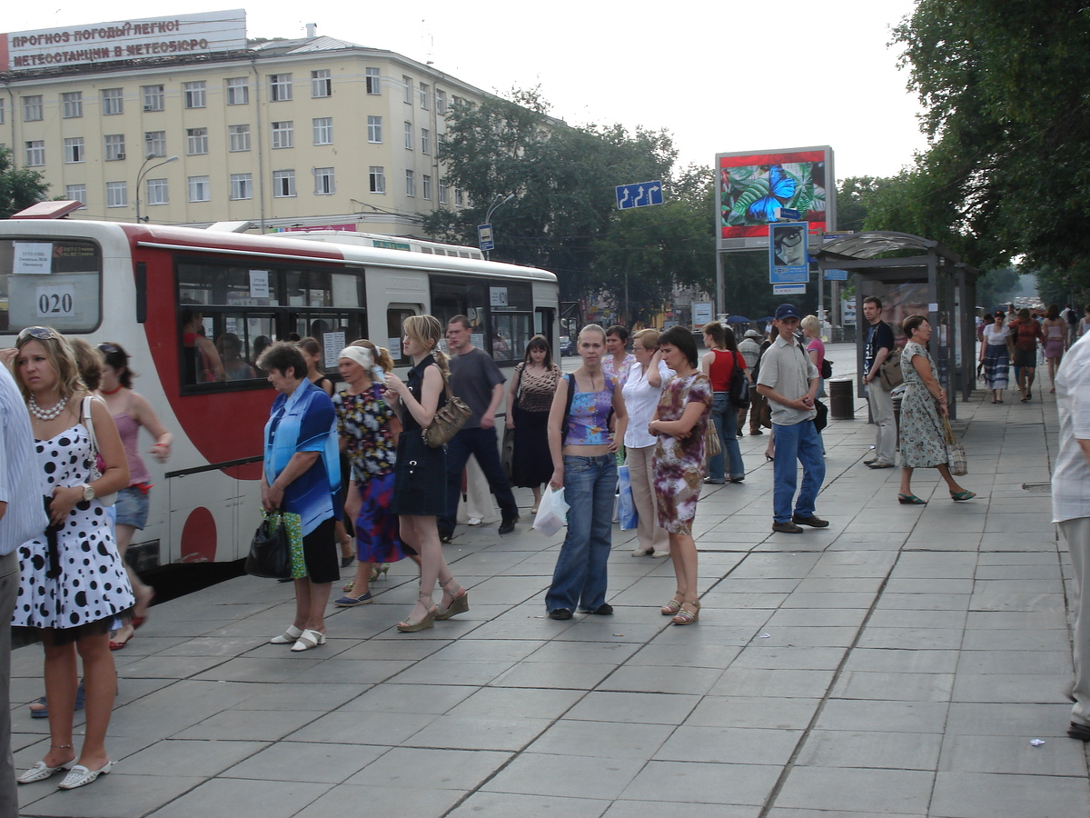
<path id="1" fill-rule="evenodd" d="M 371 575 L 375 563 L 396 563 L 405 556 L 398 534 L 393 501 L 393 409 L 383 398 L 383 385 L 373 378 L 375 359 L 366 347 L 346 347 L 338 356 L 340 375 L 348 384 L 334 395 L 337 432 L 352 465 L 344 510 L 355 531 L 355 580 L 352 592 L 334 602 L 355 608 L 372 601 Z"/>

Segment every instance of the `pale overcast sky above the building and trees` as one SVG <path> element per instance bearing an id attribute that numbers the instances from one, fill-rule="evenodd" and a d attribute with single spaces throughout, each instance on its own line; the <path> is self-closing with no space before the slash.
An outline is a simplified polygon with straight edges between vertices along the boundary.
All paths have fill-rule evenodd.
<path id="1" fill-rule="evenodd" d="M 0 21 L 9 32 L 152 16 L 130 0 L 9 5 Z M 169 19 L 239 5 L 160 8 Z M 671 0 L 647 11 L 602 0 L 327 0 L 304 17 L 305 5 L 263 0 L 246 10 L 249 36 L 298 37 L 316 23 L 319 34 L 431 60 L 485 91 L 540 85 L 553 116 L 571 124 L 667 129 L 682 165 L 827 144 L 838 178 L 889 176 L 927 146 L 888 46 L 913 0 Z"/>

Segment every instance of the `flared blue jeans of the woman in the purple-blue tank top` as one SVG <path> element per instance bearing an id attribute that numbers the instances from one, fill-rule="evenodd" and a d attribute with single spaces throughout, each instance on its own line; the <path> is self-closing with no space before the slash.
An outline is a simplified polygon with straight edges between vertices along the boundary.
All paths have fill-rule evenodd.
<path id="1" fill-rule="evenodd" d="M 564 456 L 568 533 L 545 594 L 545 610 L 594 611 L 606 601 L 606 564 L 613 548 L 617 456 Z"/>

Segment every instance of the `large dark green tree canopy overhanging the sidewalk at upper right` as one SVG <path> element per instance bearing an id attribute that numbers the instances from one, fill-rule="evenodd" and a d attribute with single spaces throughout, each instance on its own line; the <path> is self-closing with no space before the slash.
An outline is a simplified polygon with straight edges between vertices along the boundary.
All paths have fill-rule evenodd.
<path id="1" fill-rule="evenodd" d="M 931 144 L 872 218 L 984 269 L 1025 256 L 1085 277 L 1088 23 L 1076 0 L 920 0 L 894 38 Z"/>

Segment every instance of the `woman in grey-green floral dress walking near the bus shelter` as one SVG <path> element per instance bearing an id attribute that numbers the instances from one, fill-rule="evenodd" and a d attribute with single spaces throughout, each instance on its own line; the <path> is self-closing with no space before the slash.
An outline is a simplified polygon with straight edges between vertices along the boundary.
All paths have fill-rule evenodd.
<path id="1" fill-rule="evenodd" d="M 977 495 L 962 489 L 946 465 L 943 418 L 946 390 L 935 380 L 935 362 L 928 352 L 931 324 L 922 315 L 910 315 L 901 324 L 908 342 L 900 354 L 905 394 L 900 399 L 900 494 L 904 505 L 923 505 L 925 500 L 912 494 L 912 469 L 938 469 L 949 488 L 952 500 L 972 500 Z M 937 406 L 937 409 L 935 408 Z"/>

